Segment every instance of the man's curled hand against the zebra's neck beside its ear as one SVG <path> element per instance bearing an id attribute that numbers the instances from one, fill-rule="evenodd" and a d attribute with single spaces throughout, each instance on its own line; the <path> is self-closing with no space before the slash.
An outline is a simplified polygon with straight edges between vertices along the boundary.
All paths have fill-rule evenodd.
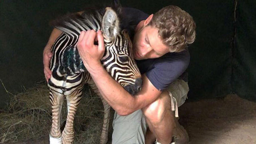
<path id="1" fill-rule="evenodd" d="M 99 45 L 94 45 L 94 41 L 98 41 Z M 105 46 L 101 31 L 88 30 L 81 32 L 77 48 L 84 66 L 89 72 L 93 72 L 99 66 L 102 66 L 100 59 L 105 52 Z"/>

